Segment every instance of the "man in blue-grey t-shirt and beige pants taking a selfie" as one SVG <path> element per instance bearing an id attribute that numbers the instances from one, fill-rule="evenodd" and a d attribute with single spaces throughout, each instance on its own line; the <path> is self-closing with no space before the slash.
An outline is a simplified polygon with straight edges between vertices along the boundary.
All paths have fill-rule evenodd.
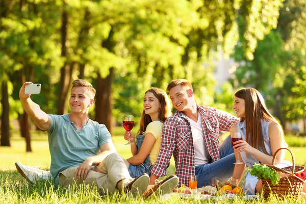
<path id="1" fill-rule="evenodd" d="M 73 81 L 69 99 L 71 113 L 67 115 L 47 115 L 43 112 L 32 101 L 31 94 L 24 93 L 25 86 L 29 84 L 32 82 L 22 85 L 19 97 L 25 112 L 39 129 L 48 133 L 50 171 L 55 185 L 68 187 L 77 181 L 95 184 L 101 193 L 124 190 L 130 195 L 142 194 L 147 189 L 148 175 L 143 174 L 133 180 L 123 158 L 116 152 L 106 126 L 88 118 L 95 95 L 95 89 L 89 82 Z"/>

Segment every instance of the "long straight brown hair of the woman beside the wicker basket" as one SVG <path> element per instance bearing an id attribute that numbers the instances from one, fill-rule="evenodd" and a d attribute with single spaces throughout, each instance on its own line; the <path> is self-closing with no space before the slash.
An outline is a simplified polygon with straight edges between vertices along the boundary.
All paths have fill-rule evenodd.
<path id="1" fill-rule="evenodd" d="M 265 121 L 274 122 L 279 127 L 279 130 L 281 130 L 283 141 L 284 133 L 281 125 L 274 119 L 267 109 L 264 98 L 258 90 L 254 88 L 244 88 L 237 91 L 235 96 L 244 99 L 245 102 L 245 118 L 242 118 L 246 123 L 245 140 L 249 142 L 252 147 L 259 150 L 261 149 L 268 155 L 264 143 L 261 120 L 263 119 Z"/>

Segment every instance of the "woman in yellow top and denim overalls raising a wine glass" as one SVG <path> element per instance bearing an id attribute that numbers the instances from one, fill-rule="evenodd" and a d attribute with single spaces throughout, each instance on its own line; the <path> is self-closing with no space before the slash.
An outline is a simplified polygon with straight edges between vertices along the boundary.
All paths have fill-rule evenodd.
<path id="1" fill-rule="evenodd" d="M 163 123 L 171 115 L 171 107 L 165 91 L 150 88 L 145 92 L 140 129 L 135 136 L 125 131 L 124 139 L 130 140 L 133 157 L 127 159 L 132 177 L 142 173 L 151 175 L 152 165 L 155 164 L 161 144 Z"/>

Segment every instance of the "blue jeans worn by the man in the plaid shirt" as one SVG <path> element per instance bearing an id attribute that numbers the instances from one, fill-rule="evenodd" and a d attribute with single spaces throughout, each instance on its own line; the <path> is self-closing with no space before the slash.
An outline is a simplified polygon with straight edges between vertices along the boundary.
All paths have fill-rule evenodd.
<path id="1" fill-rule="evenodd" d="M 229 178 L 233 176 L 235 164 L 234 148 L 231 136 L 228 136 L 220 145 L 220 159 L 213 163 L 195 167 L 195 175 L 198 176 L 198 188 L 212 185 L 212 177 Z"/>

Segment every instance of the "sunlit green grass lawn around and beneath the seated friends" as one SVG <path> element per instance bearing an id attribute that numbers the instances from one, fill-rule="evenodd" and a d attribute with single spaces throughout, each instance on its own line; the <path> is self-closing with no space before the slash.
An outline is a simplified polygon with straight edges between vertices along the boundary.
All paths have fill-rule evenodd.
<path id="1" fill-rule="evenodd" d="M 131 157 L 130 145 L 124 145 L 126 141 L 123 139 L 123 130 L 115 129 L 114 143 L 119 154 L 124 158 Z M 11 138 L 11 147 L 0 147 L 0 203 L 304 203 L 302 199 L 288 198 L 278 202 L 275 198 L 269 201 L 254 200 L 245 201 L 244 199 L 234 200 L 196 200 L 174 197 L 171 200 L 163 200 L 161 198 L 152 198 L 143 200 L 141 197 L 126 199 L 124 195 L 115 194 L 100 197 L 96 189 L 89 189 L 82 186 L 76 189 L 72 188 L 55 189 L 50 182 L 37 182 L 35 184 L 28 183 L 16 171 L 15 162 L 20 161 L 26 165 L 36 165 L 42 169 L 49 169 L 50 154 L 48 150 L 48 142 L 45 133 L 34 132 L 32 138 L 31 153 L 25 152 L 24 139 L 14 134 Z M 294 152 L 297 165 L 302 165 L 306 161 L 304 155 L 306 150 L 304 147 L 291 147 Z M 286 159 L 291 161 L 289 152 Z M 170 170 L 169 170 L 170 169 Z M 174 173 L 174 161 L 171 159 L 169 174 Z"/>

